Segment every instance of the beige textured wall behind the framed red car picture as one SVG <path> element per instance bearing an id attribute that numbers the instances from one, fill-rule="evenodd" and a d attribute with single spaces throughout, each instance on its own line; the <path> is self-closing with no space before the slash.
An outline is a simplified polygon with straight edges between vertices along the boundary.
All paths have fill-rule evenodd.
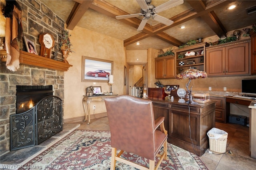
<path id="1" fill-rule="evenodd" d="M 107 82 L 81 81 L 82 55 L 114 61 L 112 91 L 115 94 L 124 93 L 124 65 L 126 62 L 123 41 L 80 27 L 70 30 L 70 34 L 70 41 L 75 53 L 71 53 L 67 58 L 73 67 L 70 67 L 64 75 L 64 119 L 84 116 L 82 99 L 83 95 L 85 95 L 86 87 L 90 85 L 101 86 L 102 92 L 110 91 L 110 86 Z M 96 105 L 95 113 L 106 111 L 102 101 L 92 102 L 91 107 L 93 105 Z"/>

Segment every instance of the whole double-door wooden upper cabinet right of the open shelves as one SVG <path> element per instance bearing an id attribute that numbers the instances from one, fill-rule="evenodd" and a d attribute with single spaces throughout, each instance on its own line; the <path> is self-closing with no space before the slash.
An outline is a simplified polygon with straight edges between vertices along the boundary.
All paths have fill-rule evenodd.
<path id="1" fill-rule="evenodd" d="M 210 76 L 249 75 L 250 40 L 206 47 L 206 73 Z"/>

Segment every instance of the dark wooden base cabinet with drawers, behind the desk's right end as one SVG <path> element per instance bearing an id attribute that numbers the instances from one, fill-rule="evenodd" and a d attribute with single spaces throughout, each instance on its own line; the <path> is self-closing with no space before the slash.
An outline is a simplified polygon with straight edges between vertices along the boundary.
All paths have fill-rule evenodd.
<path id="1" fill-rule="evenodd" d="M 215 121 L 227 123 L 226 116 L 226 97 L 210 96 L 211 101 L 215 101 Z"/>

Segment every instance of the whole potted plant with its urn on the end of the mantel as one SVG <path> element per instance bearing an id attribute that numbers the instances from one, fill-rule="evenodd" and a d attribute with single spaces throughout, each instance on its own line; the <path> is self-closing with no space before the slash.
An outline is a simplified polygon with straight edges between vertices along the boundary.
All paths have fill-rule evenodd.
<path id="1" fill-rule="evenodd" d="M 72 44 L 71 44 L 70 39 L 69 39 L 69 37 L 71 35 L 65 29 L 62 29 L 60 32 L 61 33 L 58 34 L 58 36 L 59 36 L 59 48 L 60 48 L 60 50 L 62 52 L 62 55 L 64 57 L 63 62 L 68 63 L 68 61 L 66 59 L 68 57 L 68 54 L 74 52 L 74 51 L 71 50 Z"/>

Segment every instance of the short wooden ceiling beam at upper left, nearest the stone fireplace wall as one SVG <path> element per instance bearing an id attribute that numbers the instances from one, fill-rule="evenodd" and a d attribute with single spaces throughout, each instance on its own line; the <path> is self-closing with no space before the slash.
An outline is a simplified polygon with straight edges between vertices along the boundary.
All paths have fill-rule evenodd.
<path id="1" fill-rule="evenodd" d="M 67 29 L 73 30 L 75 28 L 76 24 L 80 21 L 86 10 L 88 10 L 92 2 L 93 0 L 75 2 L 68 19 L 66 20 Z"/>

